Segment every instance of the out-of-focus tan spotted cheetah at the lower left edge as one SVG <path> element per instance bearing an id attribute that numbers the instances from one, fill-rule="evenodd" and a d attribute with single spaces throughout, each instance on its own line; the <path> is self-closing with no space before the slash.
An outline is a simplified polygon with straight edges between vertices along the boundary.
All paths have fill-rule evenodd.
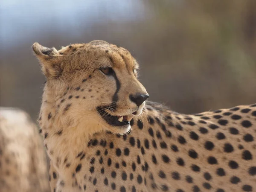
<path id="1" fill-rule="evenodd" d="M 0 192 L 49 192 L 43 139 L 27 113 L 0 108 Z"/>

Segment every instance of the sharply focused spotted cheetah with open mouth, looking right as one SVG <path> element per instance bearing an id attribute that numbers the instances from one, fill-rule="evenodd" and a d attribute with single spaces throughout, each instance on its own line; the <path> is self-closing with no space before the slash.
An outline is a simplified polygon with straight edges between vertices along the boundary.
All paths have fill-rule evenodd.
<path id="1" fill-rule="evenodd" d="M 32 48 L 52 192 L 256 191 L 256 104 L 180 114 L 146 101 L 122 47 Z"/>

